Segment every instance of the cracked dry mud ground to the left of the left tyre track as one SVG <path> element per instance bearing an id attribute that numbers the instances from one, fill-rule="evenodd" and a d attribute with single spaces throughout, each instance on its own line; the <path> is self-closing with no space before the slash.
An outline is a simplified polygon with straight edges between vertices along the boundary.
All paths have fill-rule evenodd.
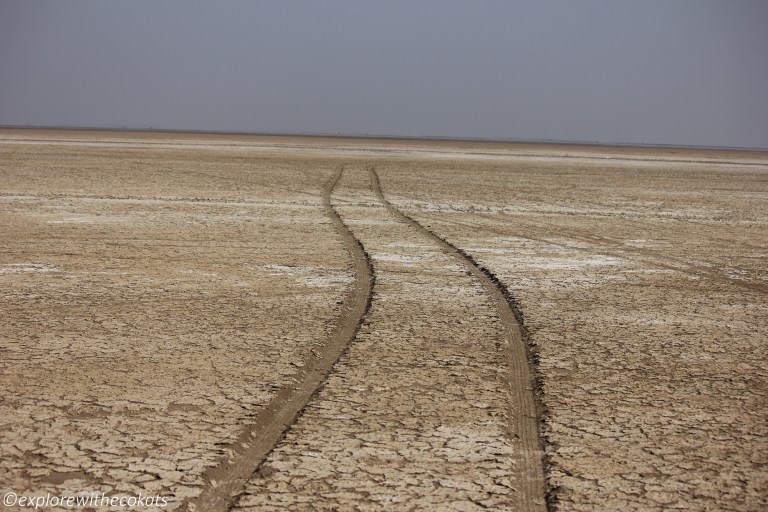
<path id="1" fill-rule="evenodd" d="M 0 489 L 186 508 L 349 314 L 337 164 L 0 151 Z"/>

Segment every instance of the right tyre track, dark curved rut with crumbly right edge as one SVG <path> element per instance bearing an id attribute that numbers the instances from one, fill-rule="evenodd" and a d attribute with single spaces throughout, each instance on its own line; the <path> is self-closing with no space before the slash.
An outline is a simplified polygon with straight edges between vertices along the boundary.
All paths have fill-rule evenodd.
<path id="1" fill-rule="evenodd" d="M 546 408 L 542 400 L 542 381 L 537 370 L 538 356 L 531 344 L 523 323 L 523 316 L 517 301 L 509 290 L 488 269 L 452 243 L 401 212 L 384 197 L 379 176 L 373 167 L 369 168 L 371 182 L 379 200 L 396 217 L 402 219 L 418 231 L 426 234 L 458 260 L 483 284 L 493 298 L 509 340 L 507 363 L 510 371 L 507 376 L 510 390 L 510 439 L 518 458 L 514 475 L 518 512 L 550 510 L 554 506 L 555 495 L 545 477 L 548 467 L 543 450 L 546 438 L 543 424 Z"/>

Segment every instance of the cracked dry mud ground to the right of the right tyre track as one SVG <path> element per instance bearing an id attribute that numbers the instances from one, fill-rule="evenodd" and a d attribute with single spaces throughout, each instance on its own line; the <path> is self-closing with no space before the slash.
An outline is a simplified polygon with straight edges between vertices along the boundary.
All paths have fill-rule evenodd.
<path id="1" fill-rule="evenodd" d="M 519 299 L 556 510 L 768 507 L 768 162 L 379 166 Z"/>

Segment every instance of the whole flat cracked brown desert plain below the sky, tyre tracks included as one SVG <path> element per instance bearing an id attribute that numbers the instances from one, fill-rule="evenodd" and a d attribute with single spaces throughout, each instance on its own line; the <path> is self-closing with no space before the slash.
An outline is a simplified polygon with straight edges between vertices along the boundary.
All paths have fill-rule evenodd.
<path id="1" fill-rule="evenodd" d="M 0 130 L 0 219 L 4 499 L 768 507 L 766 153 Z"/>

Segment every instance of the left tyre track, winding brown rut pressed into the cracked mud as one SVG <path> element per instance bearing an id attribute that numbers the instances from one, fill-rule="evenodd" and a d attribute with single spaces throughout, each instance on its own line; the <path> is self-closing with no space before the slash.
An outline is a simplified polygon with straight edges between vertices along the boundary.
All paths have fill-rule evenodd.
<path id="1" fill-rule="evenodd" d="M 260 411 L 231 449 L 234 454 L 205 474 L 206 487 L 190 500 L 187 508 L 203 512 L 230 510 L 248 479 L 263 463 L 296 417 L 321 387 L 333 365 L 339 360 L 370 308 L 374 283 L 373 266 L 362 244 L 347 229 L 331 205 L 331 193 L 343 168 L 328 181 L 323 190 L 323 206 L 354 263 L 355 282 L 345 300 L 346 311 L 321 353 L 313 353 L 296 374 L 296 384 L 284 387 Z"/>

